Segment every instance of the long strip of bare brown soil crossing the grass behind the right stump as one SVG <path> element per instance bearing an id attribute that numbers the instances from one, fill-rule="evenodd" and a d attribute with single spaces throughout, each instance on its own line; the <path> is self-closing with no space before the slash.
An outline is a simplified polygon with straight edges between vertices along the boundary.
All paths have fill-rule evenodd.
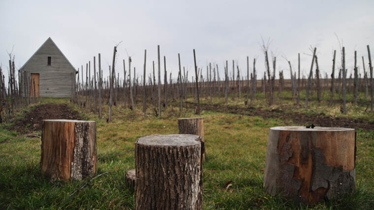
<path id="1" fill-rule="evenodd" d="M 185 104 L 189 105 L 187 108 L 194 108 L 196 106 L 196 103 L 185 102 Z M 352 119 L 348 117 L 332 117 L 323 113 L 303 114 L 284 112 L 282 109 L 273 109 L 271 111 L 267 111 L 259 110 L 254 107 L 240 107 L 220 104 L 200 104 L 200 109 L 223 113 L 259 116 L 263 118 L 281 119 L 284 121 L 292 121 L 299 125 L 314 124 L 320 127 L 344 127 L 365 130 L 373 130 L 374 128 L 374 120 L 370 121 L 365 119 Z"/>

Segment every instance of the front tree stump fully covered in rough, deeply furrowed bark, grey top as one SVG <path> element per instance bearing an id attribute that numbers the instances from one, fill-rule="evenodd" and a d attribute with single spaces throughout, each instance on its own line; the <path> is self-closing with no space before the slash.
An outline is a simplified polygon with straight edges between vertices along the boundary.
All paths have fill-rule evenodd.
<path id="1" fill-rule="evenodd" d="M 149 135 L 135 142 L 135 210 L 201 210 L 201 137 Z"/>

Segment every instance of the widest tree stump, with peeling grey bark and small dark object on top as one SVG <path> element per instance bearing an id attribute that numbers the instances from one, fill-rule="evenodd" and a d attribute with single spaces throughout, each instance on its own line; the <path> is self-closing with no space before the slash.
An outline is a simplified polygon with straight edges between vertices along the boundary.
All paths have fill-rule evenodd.
<path id="1" fill-rule="evenodd" d="M 266 191 L 310 204 L 352 192 L 355 141 L 354 129 L 271 128 L 264 176 Z"/>

